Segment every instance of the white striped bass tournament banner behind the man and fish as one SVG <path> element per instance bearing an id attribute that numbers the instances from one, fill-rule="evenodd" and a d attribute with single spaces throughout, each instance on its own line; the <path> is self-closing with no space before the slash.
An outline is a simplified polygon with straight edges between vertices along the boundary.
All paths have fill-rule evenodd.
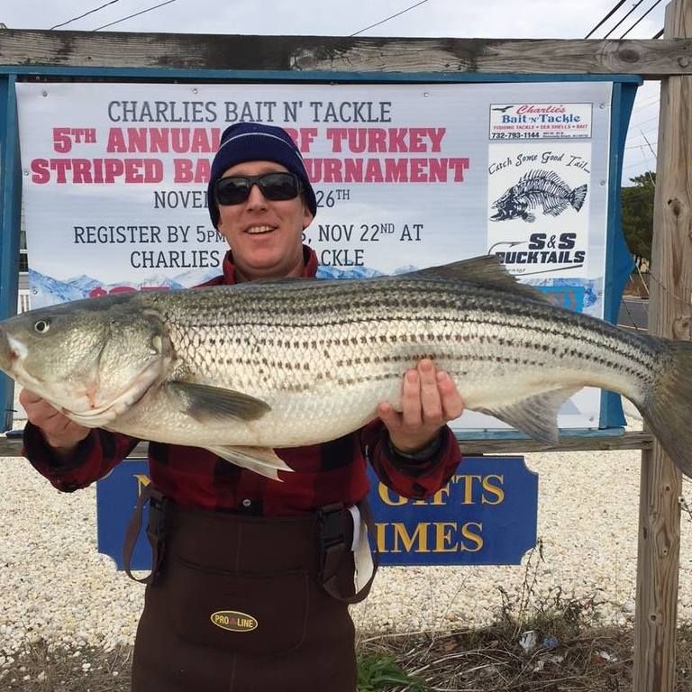
<path id="1" fill-rule="evenodd" d="M 256 121 L 287 128 L 303 152 L 320 276 L 494 252 L 563 305 L 603 315 L 610 82 L 16 91 L 33 306 L 218 274 L 227 247 L 206 210 L 211 161 L 225 127 Z M 560 427 L 597 427 L 599 411 L 585 390 Z"/>

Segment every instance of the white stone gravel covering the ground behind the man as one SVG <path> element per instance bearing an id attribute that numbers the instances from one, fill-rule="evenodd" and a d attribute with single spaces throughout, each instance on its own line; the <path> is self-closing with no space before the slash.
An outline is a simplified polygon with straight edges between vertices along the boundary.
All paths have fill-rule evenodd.
<path id="1" fill-rule="evenodd" d="M 634 424 L 636 427 L 636 423 Z M 538 535 L 544 561 L 534 592 L 550 600 L 596 596 L 608 619 L 633 617 L 639 451 L 529 454 L 539 474 Z M 0 669 L 27 642 L 70 650 L 132 644 L 144 587 L 96 552 L 96 490 L 59 493 L 23 459 L 0 473 Z M 683 496 L 692 505 L 692 485 Z M 383 568 L 352 613 L 361 632 L 414 632 L 488 624 L 498 587 L 516 596 L 516 567 Z M 533 574 L 533 569 L 530 570 Z M 678 618 L 692 620 L 692 522 L 682 515 Z"/>

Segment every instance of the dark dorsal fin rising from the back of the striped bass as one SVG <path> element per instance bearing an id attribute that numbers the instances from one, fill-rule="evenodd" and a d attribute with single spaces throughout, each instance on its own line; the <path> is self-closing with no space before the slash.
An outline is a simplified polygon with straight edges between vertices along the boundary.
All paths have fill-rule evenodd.
<path id="1" fill-rule="evenodd" d="M 510 274 L 505 266 L 497 259 L 496 255 L 481 255 L 470 259 L 460 259 L 458 262 L 441 264 L 436 267 L 418 269 L 410 275 L 420 278 L 446 278 L 448 280 L 468 281 L 491 286 L 508 291 L 514 295 L 519 294 L 542 303 L 550 303 L 545 294 L 537 288 L 520 283 L 516 277 Z"/>

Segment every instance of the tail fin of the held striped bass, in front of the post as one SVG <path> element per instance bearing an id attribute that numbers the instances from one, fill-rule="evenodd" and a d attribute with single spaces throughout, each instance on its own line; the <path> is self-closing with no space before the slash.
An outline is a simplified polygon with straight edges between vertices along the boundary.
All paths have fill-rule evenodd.
<path id="1" fill-rule="evenodd" d="M 692 478 L 692 341 L 664 341 L 664 349 L 664 367 L 638 407 L 666 454 Z"/>

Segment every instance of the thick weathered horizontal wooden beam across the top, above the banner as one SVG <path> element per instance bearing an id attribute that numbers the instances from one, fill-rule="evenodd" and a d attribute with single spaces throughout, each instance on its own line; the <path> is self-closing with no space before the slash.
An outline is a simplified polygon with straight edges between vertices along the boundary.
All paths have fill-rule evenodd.
<path id="1" fill-rule="evenodd" d="M 0 30 L 0 65 L 453 75 L 692 74 L 692 40 L 423 39 Z"/>

